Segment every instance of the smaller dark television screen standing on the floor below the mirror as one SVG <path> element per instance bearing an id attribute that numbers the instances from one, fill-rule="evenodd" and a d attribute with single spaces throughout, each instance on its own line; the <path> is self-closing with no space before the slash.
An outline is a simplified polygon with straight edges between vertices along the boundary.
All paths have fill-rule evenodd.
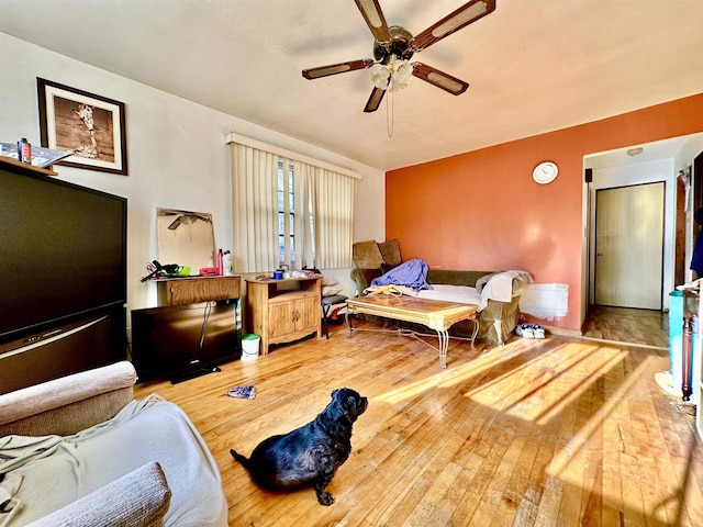
<path id="1" fill-rule="evenodd" d="M 238 300 L 132 311 L 132 362 L 140 382 L 176 381 L 242 356 Z"/>

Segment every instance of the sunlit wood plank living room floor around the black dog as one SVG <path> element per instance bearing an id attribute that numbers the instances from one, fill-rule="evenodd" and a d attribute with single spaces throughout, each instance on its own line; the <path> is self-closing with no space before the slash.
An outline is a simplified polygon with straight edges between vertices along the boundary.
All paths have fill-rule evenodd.
<path id="1" fill-rule="evenodd" d="M 376 327 L 365 323 L 365 327 Z M 232 526 L 700 526 L 703 447 L 694 408 L 655 382 L 668 352 L 513 337 L 448 367 L 424 343 L 331 327 L 179 384 L 137 385 L 178 403 L 223 478 Z M 254 384 L 255 400 L 228 388 Z M 317 504 L 258 489 L 230 456 L 311 421 L 332 390 L 369 397 L 353 453 Z"/>

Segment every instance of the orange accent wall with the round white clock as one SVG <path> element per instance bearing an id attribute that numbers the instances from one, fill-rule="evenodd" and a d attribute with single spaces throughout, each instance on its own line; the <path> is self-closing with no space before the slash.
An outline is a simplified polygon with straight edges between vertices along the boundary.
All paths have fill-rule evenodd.
<path id="1" fill-rule="evenodd" d="M 525 269 L 536 282 L 567 283 L 568 314 L 547 324 L 579 330 L 583 156 L 699 132 L 703 93 L 389 171 L 387 239 L 433 269 Z M 544 160 L 559 176 L 537 184 L 532 171 Z"/>

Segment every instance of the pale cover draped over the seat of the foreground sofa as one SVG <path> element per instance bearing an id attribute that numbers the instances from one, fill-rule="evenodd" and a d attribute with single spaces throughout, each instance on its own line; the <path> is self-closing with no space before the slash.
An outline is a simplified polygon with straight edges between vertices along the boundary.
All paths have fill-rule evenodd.
<path id="1" fill-rule="evenodd" d="M 0 438 L 0 526 L 26 525 L 149 461 L 163 467 L 172 492 L 165 525 L 226 525 L 220 472 L 203 439 L 182 410 L 150 395 L 72 436 Z"/>

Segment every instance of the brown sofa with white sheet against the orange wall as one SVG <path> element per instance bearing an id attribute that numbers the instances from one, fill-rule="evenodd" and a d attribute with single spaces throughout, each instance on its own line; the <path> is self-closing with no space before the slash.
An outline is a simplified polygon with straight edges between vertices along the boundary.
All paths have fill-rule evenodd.
<path id="1" fill-rule="evenodd" d="M 356 284 L 357 295 L 371 292 L 371 281 L 375 278 L 381 277 L 403 261 L 397 239 L 383 243 L 358 242 L 354 244 L 352 254 L 355 264 L 352 269 L 352 279 Z M 420 298 L 479 305 L 477 338 L 489 345 L 502 346 L 520 322 L 520 296 L 532 281 L 532 277 L 524 271 L 513 272 L 509 299 L 499 301 L 486 298 L 489 292 L 486 288 L 490 288 L 491 280 L 505 278 L 505 274 L 496 271 L 429 269 L 426 281 L 434 288 L 433 292 L 413 293 L 408 290 L 403 292 Z M 395 321 L 395 324 L 403 327 L 409 325 L 400 321 Z M 464 321 L 451 326 L 449 335 L 468 338 L 472 330 L 473 323 Z"/>

